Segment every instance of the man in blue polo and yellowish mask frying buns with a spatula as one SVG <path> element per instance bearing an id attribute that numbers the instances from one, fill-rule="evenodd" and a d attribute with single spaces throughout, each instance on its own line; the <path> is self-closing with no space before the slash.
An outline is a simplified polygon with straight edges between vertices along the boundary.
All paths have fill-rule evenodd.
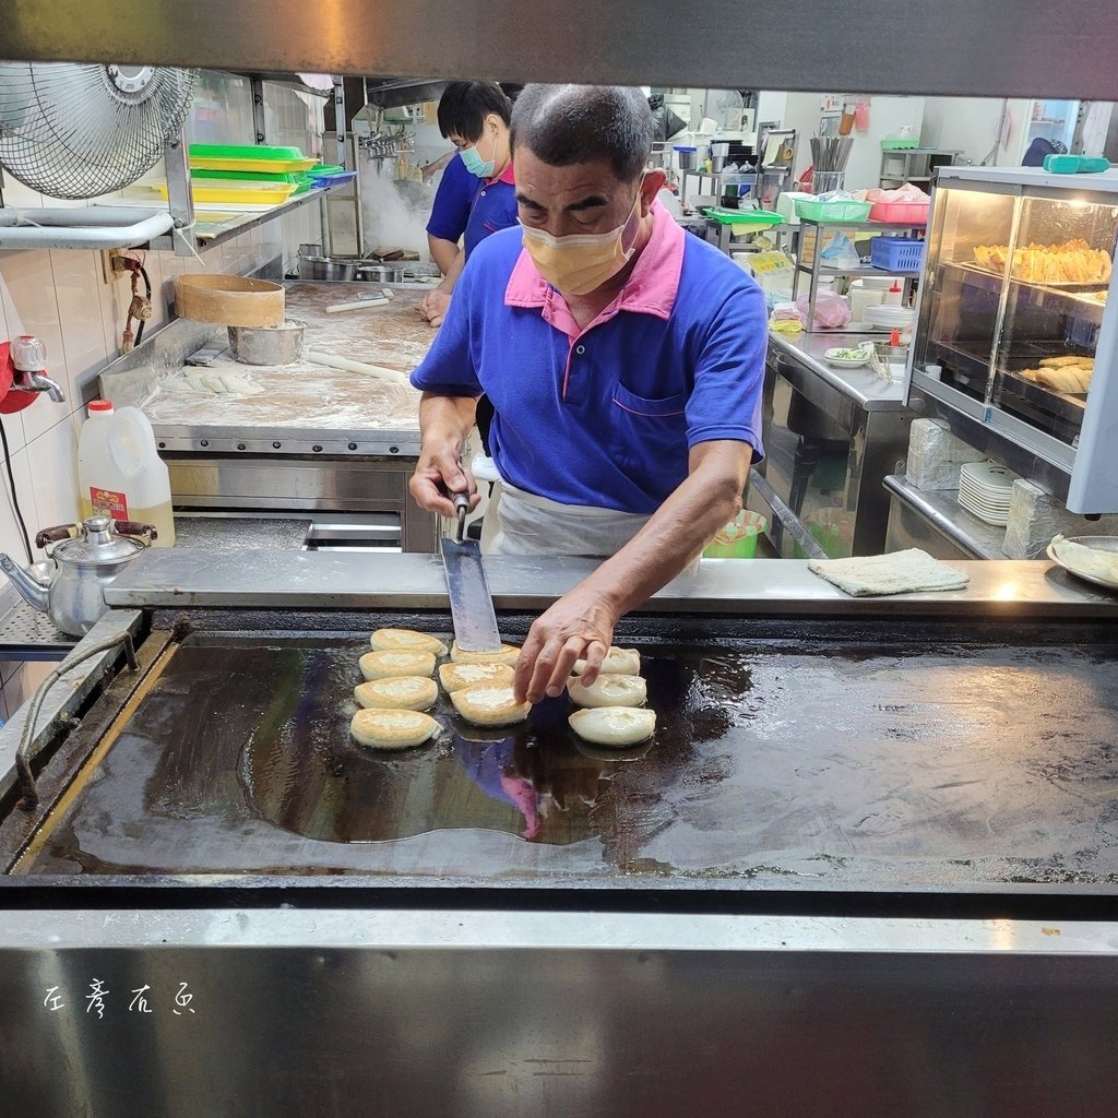
<path id="1" fill-rule="evenodd" d="M 492 550 L 593 555 L 600 566 L 532 625 L 520 697 L 593 682 L 619 617 L 694 560 L 739 506 L 761 454 L 760 288 L 686 236 L 646 171 L 639 91 L 528 86 L 512 116 L 521 229 L 479 245 L 423 389 L 419 505 L 451 517 L 474 401 L 493 401 L 502 477 Z M 489 517 L 486 517 L 489 519 Z"/>

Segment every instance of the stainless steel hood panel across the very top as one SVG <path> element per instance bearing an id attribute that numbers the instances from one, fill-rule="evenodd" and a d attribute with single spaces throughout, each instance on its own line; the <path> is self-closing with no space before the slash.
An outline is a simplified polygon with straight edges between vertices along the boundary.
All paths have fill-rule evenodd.
<path id="1" fill-rule="evenodd" d="M 946 96 L 1116 101 L 1115 57 L 1112 0 L 7 0 L 0 23 L 30 61 Z"/>

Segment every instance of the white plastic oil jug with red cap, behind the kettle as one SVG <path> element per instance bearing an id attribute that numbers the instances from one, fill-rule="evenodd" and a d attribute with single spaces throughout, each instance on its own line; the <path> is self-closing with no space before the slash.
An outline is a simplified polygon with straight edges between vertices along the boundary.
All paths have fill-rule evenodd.
<path id="1" fill-rule="evenodd" d="M 154 524 L 154 546 L 174 546 L 171 480 L 151 421 L 139 408 L 89 404 L 77 440 L 77 480 L 83 520 L 104 512 L 114 520 Z"/>

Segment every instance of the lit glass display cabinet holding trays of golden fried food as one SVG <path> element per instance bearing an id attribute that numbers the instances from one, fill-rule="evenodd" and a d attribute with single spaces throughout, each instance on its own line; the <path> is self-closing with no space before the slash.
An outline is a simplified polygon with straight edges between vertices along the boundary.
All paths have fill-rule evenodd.
<path id="1" fill-rule="evenodd" d="M 909 401 L 1070 511 L 1118 511 L 1118 173 L 944 168 L 932 192 Z M 1035 471 L 1033 471 L 1035 472 Z"/>

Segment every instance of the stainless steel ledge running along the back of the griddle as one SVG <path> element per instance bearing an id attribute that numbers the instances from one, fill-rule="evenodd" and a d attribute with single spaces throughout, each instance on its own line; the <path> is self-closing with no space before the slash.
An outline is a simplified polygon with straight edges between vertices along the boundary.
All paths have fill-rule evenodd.
<path id="1" fill-rule="evenodd" d="M 546 607 L 597 566 L 571 556 L 487 556 L 499 609 Z M 1001 616 L 1118 618 L 1118 594 L 1080 582 L 1046 560 L 966 561 L 964 590 L 853 598 L 789 559 L 703 559 L 641 607 L 644 612 L 742 616 Z M 337 551 L 253 551 L 220 563 L 198 552 L 152 550 L 106 589 L 111 606 L 446 609 L 438 556 Z"/>

